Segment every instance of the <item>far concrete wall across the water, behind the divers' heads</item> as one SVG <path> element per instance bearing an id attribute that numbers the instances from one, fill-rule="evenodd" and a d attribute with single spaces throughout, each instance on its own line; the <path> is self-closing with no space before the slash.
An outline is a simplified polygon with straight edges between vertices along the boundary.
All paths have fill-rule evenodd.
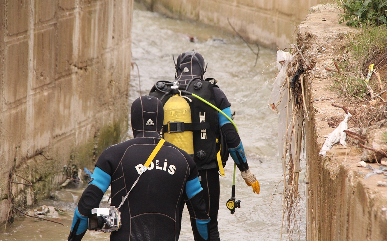
<path id="1" fill-rule="evenodd" d="M 236 31 L 249 42 L 284 49 L 295 42 L 297 25 L 308 8 L 329 0 L 137 0 L 169 17 L 194 20 L 225 32 Z"/>

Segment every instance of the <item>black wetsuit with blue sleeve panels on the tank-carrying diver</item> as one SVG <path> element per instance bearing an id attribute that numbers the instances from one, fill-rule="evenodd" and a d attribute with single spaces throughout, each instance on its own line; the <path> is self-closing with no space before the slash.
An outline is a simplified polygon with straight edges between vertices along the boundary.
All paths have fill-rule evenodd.
<path id="1" fill-rule="evenodd" d="M 197 52 L 194 52 L 194 51 L 185 52 L 180 56 L 178 56 L 176 61 L 175 80 L 179 81 L 179 84 L 181 86 L 186 86 L 187 84 L 188 86 L 191 86 L 193 85 L 192 83 L 197 82 L 198 79 L 202 80 L 204 72 L 205 72 L 204 59 Z M 211 79 L 211 81 L 216 82 L 214 79 Z M 206 82 L 206 81 L 202 81 L 202 82 Z M 226 115 L 228 115 L 231 118 L 231 109 L 230 109 L 231 104 L 229 103 L 223 91 L 219 89 L 219 87 L 216 86 L 215 84 L 213 85 L 203 84 L 203 86 L 208 86 L 208 88 L 210 89 L 210 91 L 206 91 L 206 93 L 211 92 L 211 94 L 207 94 L 208 99 L 206 100 L 214 104 L 217 108 L 222 110 L 224 113 L 226 113 Z M 205 87 L 202 87 L 202 88 L 205 88 Z M 190 87 L 188 87 L 188 89 L 190 89 Z M 199 89 L 197 91 L 198 93 L 197 95 L 200 96 L 201 95 L 200 91 L 202 91 L 202 89 L 200 88 L 197 88 L 197 89 Z M 163 99 L 163 103 L 165 103 L 167 99 L 171 96 L 171 94 L 164 96 L 164 93 L 161 93 L 156 88 L 152 88 L 149 94 Z M 204 97 L 204 96 L 200 96 L 200 97 Z M 192 96 L 190 96 L 189 98 L 195 99 Z M 188 101 L 188 104 L 190 105 L 191 113 L 198 112 L 200 110 L 203 111 L 204 109 L 208 110 L 209 108 L 207 104 L 205 104 L 202 101 L 197 101 L 196 99 L 192 101 Z M 211 109 L 211 107 L 209 109 Z M 215 112 L 216 112 L 215 116 L 211 115 L 211 118 L 206 118 L 205 120 L 210 122 L 210 126 L 212 128 L 212 130 L 210 131 L 217 131 L 217 136 L 212 137 L 212 139 L 207 138 L 206 140 L 203 140 L 205 145 L 207 145 L 207 150 L 210 145 L 213 146 L 213 148 L 215 149 L 215 145 L 212 145 L 211 143 L 215 143 L 216 142 L 215 139 L 221 138 L 221 135 L 223 134 L 228 151 L 231 157 L 233 158 L 234 162 L 238 166 L 238 169 L 240 169 L 241 171 L 247 170 L 248 164 L 245 157 L 245 151 L 243 149 L 243 145 L 238 135 L 238 132 L 236 131 L 236 128 L 223 114 L 217 113 L 217 111 Z M 192 122 L 194 122 L 195 118 L 196 116 L 192 116 Z M 220 131 L 218 131 L 219 129 Z M 194 149 L 195 149 L 195 131 L 196 131 L 196 134 L 199 133 L 200 135 L 201 130 L 193 131 Z M 203 188 L 203 197 L 206 203 L 207 213 L 211 217 L 209 228 L 211 233 L 210 240 L 213 240 L 213 241 L 220 240 L 219 231 L 217 229 L 217 214 L 219 211 L 219 195 L 220 195 L 219 174 L 218 174 L 219 168 L 218 168 L 218 162 L 216 158 L 217 151 L 218 150 L 210 151 L 212 154 L 209 155 L 210 159 L 206 163 L 203 163 L 202 160 L 198 158 L 196 153 L 194 153 L 194 160 L 199 170 L 200 184 Z M 192 223 L 192 225 L 194 225 L 194 223 Z"/>

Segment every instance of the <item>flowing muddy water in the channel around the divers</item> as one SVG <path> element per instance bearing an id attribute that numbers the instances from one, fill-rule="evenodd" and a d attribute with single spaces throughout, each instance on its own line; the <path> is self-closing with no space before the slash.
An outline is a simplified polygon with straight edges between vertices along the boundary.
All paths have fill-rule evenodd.
<path id="1" fill-rule="evenodd" d="M 191 42 L 193 40 L 193 42 Z M 252 48 L 257 50 L 256 46 Z M 208 63 L 205 77 L 216 78 L 218 86 L 228 97 L 231 111 L 235 111 L 234 121 L 247 153 L 250 169 L 260 182 L 260 194 L 253 194 L 237 169 L 236 199 L 241 200 L 241 208 L 231 215 L 226 201 L 231 197 L 233 161 L 229 158 L 225 167 L 225 177 L 221 177 L 221 197 L 219 205 L 219 232 L 223 241 L 271 241 L 281 238 L 283 216 L 282 163 L 277 152 L 277 116 L 267 108 L 276 69 L 276 52 L 260 48 L 259 59 L 239 38 L 219 32 L 216 29 L 190 22 L 165 18 L 158 13 L 144 10 L 135 5 L 132 28 L 132 62 L 135 62 L 130 81 L 128 103 L 141 94 L 149 93 L 158 80 L 174 79 L 175 58 L 185 51 L 200 52 Z M 140 76 L 140 81 L 138 76 Z M 268 83 L 269 82 L 269 83 Z M 131 138 L 131 131 L 126 138 Z M 303 192 L 303 174 L 300 175 L 300 190 Z M 276 185 L 278 189 L 276 190 Z M 72 215 L 76 203 L 86 184 L 78 184 L 55 192 L 55 198 L 39 203 L 39 206 L 55 206 L 65 214 L 46 217 L 64 224 L 42 221 L 31 217 L 17 217 L 12 224 L 1 230 L 0 241 L 8 240 L 66 240 L 70 232 Z M 273 195 L 274 192 L 279 195 Z M 303 194 L 301 194 L 303 196 Z M 105 196 L 105 199 L 106 196 Z M 304 198 L 305 200 L 305 198 Z M 104 200 L 106 202 L 106 200 Z M 161 204 L 162 202 L 160 202 Z M 305 209 L 305 201 L 301 202 Z M 306 240 L 305 212 L 301 211 L 300 236 L 295 240 Z M 286 223 L 284 223 L 286 226 Z M 285 228 L 283 229 L 283 233 Z M 109 240 L 108 234 L 88 231 L 82 240 Z M 187 209 L 184 209 L 181 241 L 193 240 Z M 283 240 L 285 238 L 283 237 Z"/>

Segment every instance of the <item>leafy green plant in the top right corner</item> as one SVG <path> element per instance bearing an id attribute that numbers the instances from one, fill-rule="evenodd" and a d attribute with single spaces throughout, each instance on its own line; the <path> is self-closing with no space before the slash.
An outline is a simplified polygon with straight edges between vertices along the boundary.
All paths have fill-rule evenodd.
<path id="1" fill-rule="evenodd" d="M 342 8 L 339 23 L 353 27 L 387 24 L 387 0 L 338 0 Z"/>

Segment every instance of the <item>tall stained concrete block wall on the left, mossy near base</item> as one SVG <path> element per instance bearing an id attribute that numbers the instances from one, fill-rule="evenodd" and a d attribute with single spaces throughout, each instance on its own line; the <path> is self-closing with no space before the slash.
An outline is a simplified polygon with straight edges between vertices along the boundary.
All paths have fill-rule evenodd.
<path id="1" fill-rule="evenodd" d="M 132 9 L 132 0 L 0 1 L 0 223 L 92 168 L 126 132 Z"/>

